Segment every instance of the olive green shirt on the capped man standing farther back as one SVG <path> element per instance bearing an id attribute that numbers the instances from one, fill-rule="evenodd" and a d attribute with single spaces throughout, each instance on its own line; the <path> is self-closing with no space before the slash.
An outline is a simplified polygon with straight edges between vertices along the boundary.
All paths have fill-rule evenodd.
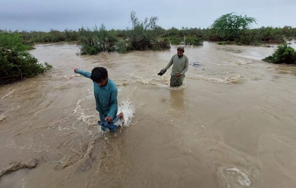
<path id="1" fill-rule="evenodd" d="M 183 54 L 181 58 L 178 57 L 178 54 L 172 56 L 170 62 L 165 67 L 169 69 L 173 65 L 171 75 L 175 76 L 176 74 L 181 74 L 182 77 L 185 77 L 185 72 L 188 70 L 188 58 Z"/>

